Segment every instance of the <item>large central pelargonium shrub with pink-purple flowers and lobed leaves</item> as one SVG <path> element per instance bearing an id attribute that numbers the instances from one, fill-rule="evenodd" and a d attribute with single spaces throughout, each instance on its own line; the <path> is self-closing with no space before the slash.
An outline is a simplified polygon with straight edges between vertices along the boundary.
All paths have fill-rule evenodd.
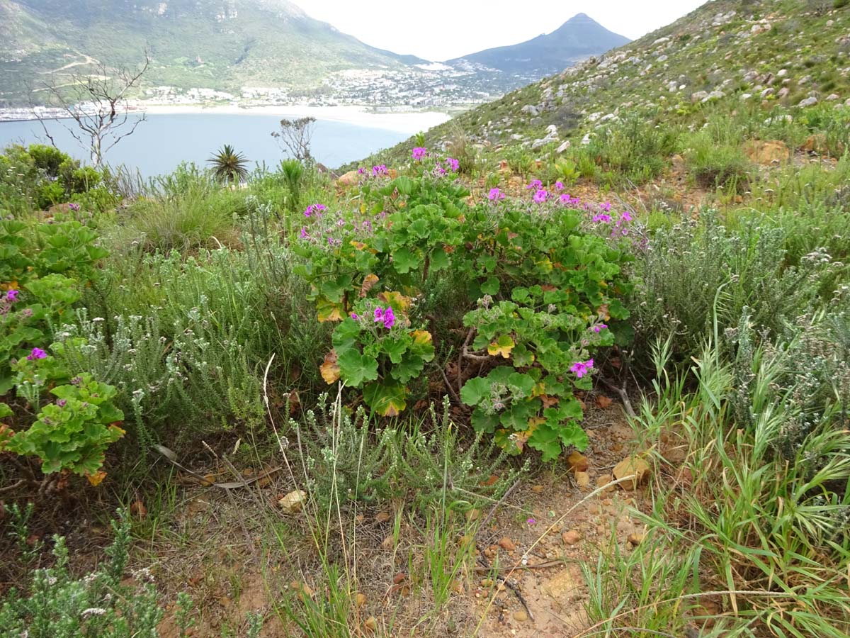
<path id="1" fill-rule="evenodd" d="M 323 376 L 361 388 L 379 414 L 404 409 L 434 358 L 433 316 L 412 300 L 443 276 L 464 300 L 441 347 L 461 353 L 462 378 L 479 371 L 460 395 L 475 429 L 544 459 L 585 447 L 575 392 L 592 388 L 597 350 L 631 339 L 618 247 L 629 216 L 601 233 L 598 209 L 535 183 L 528 201 L 494 191 L 471 207 L 447 159 L 417 148 L 412 164 L 416 177 L 365 180 L 360 211 L 311 214 L 293 240 L 317 321 L 339 322 Z"/>

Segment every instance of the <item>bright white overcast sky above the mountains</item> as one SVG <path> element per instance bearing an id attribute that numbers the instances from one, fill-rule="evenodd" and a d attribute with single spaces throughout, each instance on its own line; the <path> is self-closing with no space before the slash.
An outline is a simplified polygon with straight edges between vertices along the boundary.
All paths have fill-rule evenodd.
<path id="1" fill-rule="evenodd" d="M 373 47 L 450 60 L 550 33 L 585 13 L 632 40 L 705 0 L 294 0 L 308 14 Z"/>

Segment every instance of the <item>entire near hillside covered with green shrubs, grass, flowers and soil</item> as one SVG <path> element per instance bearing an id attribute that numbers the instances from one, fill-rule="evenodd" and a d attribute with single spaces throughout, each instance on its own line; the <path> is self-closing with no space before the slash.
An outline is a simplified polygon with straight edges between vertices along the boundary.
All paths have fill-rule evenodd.
<path id="1" fill-rule="evenodd" d="M 847 10 L 718 0 L 337 179 L 4 149 L 3 635 L 846 638 Z"/>

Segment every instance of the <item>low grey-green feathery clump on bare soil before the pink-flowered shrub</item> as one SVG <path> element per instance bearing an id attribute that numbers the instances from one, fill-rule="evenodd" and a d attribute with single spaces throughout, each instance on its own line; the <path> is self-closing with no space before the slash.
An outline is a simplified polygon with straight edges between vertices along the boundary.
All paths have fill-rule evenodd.
<path id="1" fill-rule="evenodd" d="M 471 508 L 481 503 L 470 498 L 500 498 L 527 469 L 512 469 L 507 454 L 483 432 L 467 440 L 451 422 L 448 402 L 442 413 L 432 405 L 428 419 L 414 419 L 410 428 L 382 424 L 376 429 L 362 407 L 352 414 L 323 394 L 304 423 L 291 420 L 290 429 L 309 493 L 321 510 L 331 507 L 328 499 L 336 495 L 341 503 L 410 497 L 426 510 L 445 498 Z"/>

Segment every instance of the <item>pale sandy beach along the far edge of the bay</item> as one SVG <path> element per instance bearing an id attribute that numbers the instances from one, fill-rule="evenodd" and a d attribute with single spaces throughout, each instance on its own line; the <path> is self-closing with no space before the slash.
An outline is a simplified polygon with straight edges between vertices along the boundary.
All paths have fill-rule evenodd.
<path id="1" fill-rule="evenodd" d="M 366 111 L 363 106 L 248 106 L 237 105 L 144 105 L 133 112 L 144 112 L 148 115 L 266 115 L 275 117 L 305 117 L 312 116 L 317 120 L 329 122 L 344 122 L 354 126 L 382 128 L 399 133 L 414 134 L 425 131 L 446 122 L 450 115 L 441 111 L 411 111 L 403 113 L 376 113 Z M 33 117 L 33 119 L 35 119 Z M 20 122 L 5 120 L 0 111 L 0 122 Z"/>

